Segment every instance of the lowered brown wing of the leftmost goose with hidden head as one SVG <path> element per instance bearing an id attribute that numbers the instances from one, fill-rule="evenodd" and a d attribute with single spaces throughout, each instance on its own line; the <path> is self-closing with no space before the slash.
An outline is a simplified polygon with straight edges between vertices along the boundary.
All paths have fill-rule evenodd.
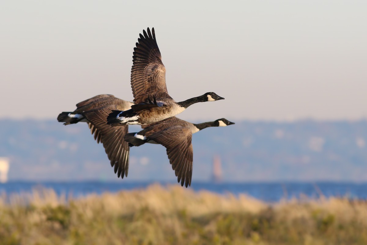
<path id="1" fill-rule="evenodd" d="M 93 109 L 84 112 L 83 115 L 89 121 L 88 125 L 97 143 L 101 142 L 105 148 L 111 166 L 115 166 L 117 177 L 127 176 L 129 168 L 130 148 L 128 142 L 124 141 L 128 133 L 128 125 L 111 127 L 106 124 L 106 118 L 111 110 L 117 109 L 116 105 Z"/>

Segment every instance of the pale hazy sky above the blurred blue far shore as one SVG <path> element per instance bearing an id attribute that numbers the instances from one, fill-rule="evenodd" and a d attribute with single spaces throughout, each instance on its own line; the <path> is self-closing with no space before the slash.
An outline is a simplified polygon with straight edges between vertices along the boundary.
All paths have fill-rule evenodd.
<path id="1" fill-rule="evenodd" d="M 1 1 L 0 118 L 55 119 L 97 94 L 132 100 L 139 33 L 167 89 L 214 91 L 182 119 L 367 117 L 367 1 Z"/>

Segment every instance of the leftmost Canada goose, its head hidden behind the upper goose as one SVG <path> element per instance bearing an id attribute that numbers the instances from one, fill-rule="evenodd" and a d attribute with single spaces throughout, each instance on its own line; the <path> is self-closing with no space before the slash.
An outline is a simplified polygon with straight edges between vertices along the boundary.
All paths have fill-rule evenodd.
<path id="1" fill-rule="evenodd" d="M 62 112 L 57 120 L 65 122 L 64 125 L 87 122 L 94 139 L 103 144 L 111 166 L 115 166 L 117 177 L 121 175 L 123 178 L 127 176 L 129 167 L 130 148 L 124 141 L 128 125 L 110 127 L 106 125 L 106 117 L 113 109 L 127 110 L 133 104 L 110 94 L 100 94 L 76 104 L 77 108 L 73 112 Z"/>

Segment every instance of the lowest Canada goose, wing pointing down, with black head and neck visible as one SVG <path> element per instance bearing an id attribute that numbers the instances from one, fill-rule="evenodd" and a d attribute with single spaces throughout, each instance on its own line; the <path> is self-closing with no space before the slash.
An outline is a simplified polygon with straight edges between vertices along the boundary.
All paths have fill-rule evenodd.
<path id="1" fill-rule="evenodd" d="M 130 146 L 139 146 L 144 143 L 161 144 L 167 149 L 168 159 L 175 170 L 177 181 L 183 186 L 191 185 L 193 148 L 191 137 L 193 133 L 207 127 L 222 127 L 235 124 L 225 118 L 214 122 L 189 123 L 175 116 L 150 125 L 143 125 L 143 130 L 137 133 L 128 133 L 125 140 Z"/>

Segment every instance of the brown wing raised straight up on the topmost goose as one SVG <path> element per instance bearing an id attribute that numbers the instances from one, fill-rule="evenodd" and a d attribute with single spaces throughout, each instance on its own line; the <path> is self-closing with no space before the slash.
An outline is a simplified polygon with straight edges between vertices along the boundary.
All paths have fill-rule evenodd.
<path id="1" fill-rule="evenodd" d="M 154 28 L 143 30 L 132 56 L 131 89 L 135 104 L 148 98 L 171 98 L 166 87 L 166 68 L 157 45 Z"/>

